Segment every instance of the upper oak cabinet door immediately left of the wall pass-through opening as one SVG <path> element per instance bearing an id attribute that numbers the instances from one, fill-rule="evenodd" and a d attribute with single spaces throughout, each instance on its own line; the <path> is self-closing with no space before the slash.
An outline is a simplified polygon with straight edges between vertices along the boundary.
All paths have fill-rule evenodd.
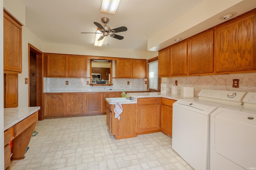
<path id="1" fill-rule="evenodd" d="M 87 77 L 87 57 L 68 56 L 68 77 Z"/>

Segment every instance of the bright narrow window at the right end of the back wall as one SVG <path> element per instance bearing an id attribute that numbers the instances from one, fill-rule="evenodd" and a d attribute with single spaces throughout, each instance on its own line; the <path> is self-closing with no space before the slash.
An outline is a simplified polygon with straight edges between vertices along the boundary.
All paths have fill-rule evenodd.
<path id="1" fill-rule="evenodd" d="M 158 90 L 158 61 L 148 63 L 148 88 Z"/>

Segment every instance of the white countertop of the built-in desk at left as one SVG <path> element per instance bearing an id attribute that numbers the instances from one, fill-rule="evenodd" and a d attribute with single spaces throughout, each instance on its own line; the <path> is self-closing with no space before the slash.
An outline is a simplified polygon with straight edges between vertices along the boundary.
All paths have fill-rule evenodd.
<path id="1" fill-rule="evenodd" d="M 4 108 L 4 131 L 38 111 L 40 107 Z"/>

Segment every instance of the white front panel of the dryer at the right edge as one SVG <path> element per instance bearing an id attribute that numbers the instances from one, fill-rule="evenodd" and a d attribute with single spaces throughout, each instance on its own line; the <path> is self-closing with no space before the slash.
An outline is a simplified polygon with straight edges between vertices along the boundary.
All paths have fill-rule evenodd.
<path id="1" fill-rule="evenodd" d="M 254 117 L 254 119 L 249 117 Z M 215 116 L 214 143 L 218 154 L 245 169 L 255 169 L 255 115 L 227 109 L 219 111 Z"/>

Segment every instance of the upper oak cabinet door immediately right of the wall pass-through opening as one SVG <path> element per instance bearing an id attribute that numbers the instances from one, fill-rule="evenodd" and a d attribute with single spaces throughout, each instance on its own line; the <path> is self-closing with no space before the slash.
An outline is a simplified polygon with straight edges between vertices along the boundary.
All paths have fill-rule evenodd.
<path id="1" fill-rule="evenodd" d="M 116 78 L 132 78 L 132 59 L 117 59 Z"/>

